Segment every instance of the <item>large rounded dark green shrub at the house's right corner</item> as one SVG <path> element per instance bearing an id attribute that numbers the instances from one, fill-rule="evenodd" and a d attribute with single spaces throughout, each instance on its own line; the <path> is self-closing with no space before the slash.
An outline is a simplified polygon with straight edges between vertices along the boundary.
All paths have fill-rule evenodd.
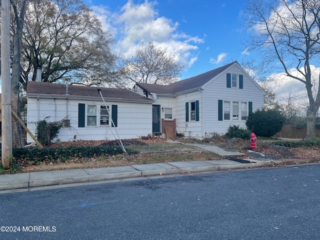
<path id="1" fill-rule="evenodd" d="M 270 137 L 282 128 L 284 117 L 275 109 L 250 112 L 245 124 L 257 136 Z"/>

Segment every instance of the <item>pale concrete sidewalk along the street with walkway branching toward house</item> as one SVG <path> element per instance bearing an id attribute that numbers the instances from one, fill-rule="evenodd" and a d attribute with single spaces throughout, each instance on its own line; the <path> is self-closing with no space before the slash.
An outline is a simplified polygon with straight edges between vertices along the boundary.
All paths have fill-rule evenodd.
<path id="1" fill-rule="evenodd" d="M 10 189 L 28 190 L 32 187 L 60 185 L 68 183 L 97 182 L 111 179 L 133 177 L 184 174 L 194 172 L 212 172 L 239 168 L 253 168 L 261 166 L 298 164 L 316 162 L 319 159 L 285 159 L 285 160 L 255 160 L 242 159 L 242 163 L 232 157 L 243 156 L 241 152 L 229 152 L 212 145 L 190 144 L 213 151 L 221 156 L 220 160 L 176 161 L 167 163 L 139 164 L 131 166 L 114 166 L 100 168 L 83 168 L 69 170 L 37 171 L 29 173 L 0 175 L 0 193 L 10 192 Z M 230 159 L 225 159 L 225 158 Z M 224 158 L 224 159 L 223 159 Z"/>

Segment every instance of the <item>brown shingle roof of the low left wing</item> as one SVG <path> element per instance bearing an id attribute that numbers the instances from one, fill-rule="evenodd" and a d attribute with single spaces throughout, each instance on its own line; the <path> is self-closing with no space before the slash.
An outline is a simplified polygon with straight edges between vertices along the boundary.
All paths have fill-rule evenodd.
<path id="1" fill-rule="evenodd" d="M 85 96 L 85 97 L 101 97 L 97 88 L 101 89 L 101 94 L 104 98 L 118 98 L 123 100 L 143 100 L 153 102 L 151 99 L 141 96 L 128 89 L 93 87 L 93 86 L 78 86 L 68 85 L 68 93 L 70 97 Z M 64 95 L 66 93 L 65 84 L 28 81 L 26 87 L 27 94 L 54 94 Z"/>

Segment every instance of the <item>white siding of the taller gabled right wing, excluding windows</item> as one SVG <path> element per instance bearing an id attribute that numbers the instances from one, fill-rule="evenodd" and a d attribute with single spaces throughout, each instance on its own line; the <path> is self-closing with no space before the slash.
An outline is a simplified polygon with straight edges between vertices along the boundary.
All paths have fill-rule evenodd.
<path id="1" fill-rule="evenodd" d="M 243 89 L 227 88 L 226 87 L 226 73 L 235 73 L 243 75 Z M 163 97 L 165 98 L 165 97 Z M 208 81 L 202 86 L 201 90 L 180 94 L 174 98 L 162 97 L 156 99 L 153 104 L 160 104 L 161 107 L 166 104 L 175 105 L 173 118 L 176 119 L 177 133 L 183 132 L 185 136 L 190 137 L 205 137 L 210 133 L 224 134 L 230 125 L 245 126 L 245 120 L 218 120 L 218 100 L 223 101 L 237 101 L 247 103 L 252 102 L 252 111 L 263 107 L 263 92 L 256 83 L 240 68 L 237 64 L 226 71 Z M 199 121 L 185 121 L 185 102 L 199 100 Z M 190 111 L 190 109 L 189 109 Z"/>

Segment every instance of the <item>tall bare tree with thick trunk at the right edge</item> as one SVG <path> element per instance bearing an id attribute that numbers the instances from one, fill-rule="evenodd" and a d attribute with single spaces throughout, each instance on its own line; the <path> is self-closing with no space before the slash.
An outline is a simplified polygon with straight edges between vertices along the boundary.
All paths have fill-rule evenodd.
<path id="1" fill-rule="evenodd" d="M 246 44 L 250 50 L 258 49 L 269 62 L 279 61 L 287 76 L 304 83 L 308 97 L 306 137 L 312 137 L 320 106 L 320 84 L 312 91 L 310 64 L 318 64 L 320 57 L 320 1 L 269 2 L 246 1 L 246 23 L 254 31 Z M 320 83 L 320 75 L 317 81 Z"/>

